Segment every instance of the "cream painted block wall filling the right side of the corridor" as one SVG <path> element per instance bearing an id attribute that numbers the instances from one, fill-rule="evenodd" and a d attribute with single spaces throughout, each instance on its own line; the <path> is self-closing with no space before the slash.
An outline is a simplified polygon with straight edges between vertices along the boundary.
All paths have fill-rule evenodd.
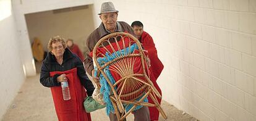
<path id="1" fill-rule="evenodd" d="M 164 100 L 199 120 L 256 120 L 256 1 L 113 2 L 117 20 L 140 20 L 153 37 Z"/>

